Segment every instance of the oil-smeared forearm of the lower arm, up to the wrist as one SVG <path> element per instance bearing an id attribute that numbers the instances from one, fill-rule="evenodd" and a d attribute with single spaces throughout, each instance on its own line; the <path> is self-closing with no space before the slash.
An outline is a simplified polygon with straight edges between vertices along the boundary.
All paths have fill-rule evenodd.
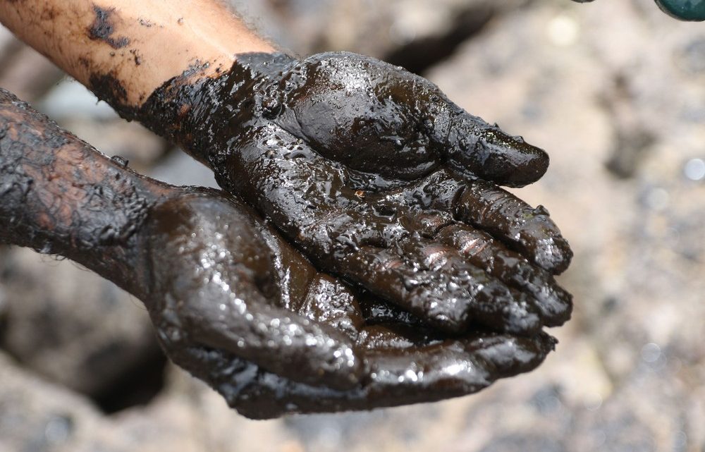
<path id="1" fill-rule="evenodd" d="M 0 89 L 1 243 L 66 256 L 140 296 L 132 244 L 167 194 Z"/>

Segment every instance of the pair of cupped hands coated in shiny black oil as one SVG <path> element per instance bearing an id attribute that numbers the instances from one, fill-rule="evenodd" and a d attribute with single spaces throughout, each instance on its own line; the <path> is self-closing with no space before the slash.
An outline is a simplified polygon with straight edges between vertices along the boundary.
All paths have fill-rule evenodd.
<path id="1" fill-rule="evenodd" d="M 157 184 L 123 246 L 161 345 L 248 417 L 472 393 L 539 365 L 542 329 L 570 317 L 553 279 L 568 243 L 498 187 L 537 181 L 548 157 L 424 78 L 356 54 L 241 54 L 118 110 L 224 190 L 103 163 Z"/>

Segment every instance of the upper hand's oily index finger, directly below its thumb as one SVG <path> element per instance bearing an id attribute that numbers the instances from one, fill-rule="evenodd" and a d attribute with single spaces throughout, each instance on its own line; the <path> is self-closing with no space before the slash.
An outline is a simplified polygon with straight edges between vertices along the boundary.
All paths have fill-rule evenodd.
<path id="1" fill-rule="evenodd" d="M 491 233 L 537 264 L 560 274 L 572 251 L 544 207 L 532 208 L 511 193 L 485 181 L 473 181 L 455 202 L 460 221 Z"/>

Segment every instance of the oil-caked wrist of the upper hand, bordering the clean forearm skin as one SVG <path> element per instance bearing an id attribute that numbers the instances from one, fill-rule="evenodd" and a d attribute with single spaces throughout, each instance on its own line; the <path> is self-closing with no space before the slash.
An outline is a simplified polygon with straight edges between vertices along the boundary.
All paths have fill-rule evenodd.
<path id="1" fill-rule="evenodd" d="M 215 74 L 195 66 L 154 90 L 139 109 L 121 114 L 214 168 L 227 147 L 219 140 L 238 137 L 253 118 L 278 114 L 281 80 L 295 63 L 281 52 L 255 52 L 238 54 Z"/>

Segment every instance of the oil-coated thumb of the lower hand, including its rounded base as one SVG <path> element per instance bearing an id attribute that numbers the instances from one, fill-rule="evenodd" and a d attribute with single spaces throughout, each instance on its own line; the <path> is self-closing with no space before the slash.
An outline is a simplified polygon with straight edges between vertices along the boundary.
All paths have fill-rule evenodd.
<path id="1" fill-rule="evenodd" d="M 177 317 L 192 341 L 294 381 L 357 384 L 364 364 L 349 338 L 276 306 L 269 250 L 233 202 L 184 195 L 154 209 L 150 228 L 153 293 L 165 300 L 158 317 Z"/>

